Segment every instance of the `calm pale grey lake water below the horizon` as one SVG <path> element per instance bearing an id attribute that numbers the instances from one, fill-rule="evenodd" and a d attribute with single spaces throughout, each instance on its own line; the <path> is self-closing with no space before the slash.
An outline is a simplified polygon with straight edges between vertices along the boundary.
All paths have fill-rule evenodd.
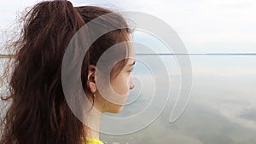
<path id="1" fill-rule="evenodd" d="M 161 55 L 166 69 L 152 55 L 137 55 L 134 69 L 136 87 L 131 90 L 129 101 L 118 114 L 106 113 L 111 118 L 137 117 L 137 123 L 105 124 L 108 130 L 130 130 L 133 125 L 148 123 L 147 118 L 159 116 L 145 128 L 126 135 L 101 133 L 101 140 L 108 144 L 253 144 L 256 142 L 256 55 L 189 55 L 192 64 L 192 92 L 189 104 L 181 117 L 170 122 L 170 115 L 177 100 L 181 84 L 180 69 L 175 55 Z M 155 60 L 154 60 L 155 59 Z M 3 65 L 3 60 L 1 60 Z M 145 64 L 146 63 L 146 64 Z M 147 64 L 152 64 L 148 66 Z M 160 66 L 161 65 L 161 66 Z M 168 72 L 166 75 L 165 71 Z M 159 79 L 154 79 L 159 78 Z M 161 79 L 163 78 L 163 79 Z M 170 78 L 170 94 L 166 106 L 166 85 L 154 85 L 156 81 Z M 168 86 L 168 85 L 167 85 Z M 157 88 L 156 90 L 154 90 Z M 3 91 L 2 91 L 3 92 Z M 156 97 L 154 101 L 152 96 Z M 181 96 L 181 112 L 189 97 Z M 148 107 L 148 104 L 150 106 Z M 0 103 L 3 113 L 3 102 Z M 147 112 L 145 117 L 137 116 Z M 153 108 L 152 108 L 153 107 Z M 154 112 L 155 107 L 155 112 Z M 160 107 L 163 107 L 163 111 Z M 128 121 L 129 122 L 129 121 Z"/>

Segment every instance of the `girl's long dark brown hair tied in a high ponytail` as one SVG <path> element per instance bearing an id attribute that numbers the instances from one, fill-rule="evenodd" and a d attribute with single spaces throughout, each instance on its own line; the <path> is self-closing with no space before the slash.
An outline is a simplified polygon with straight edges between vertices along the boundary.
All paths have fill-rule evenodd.
<path id="1" fill-rule="evenodd" d="M 61 61 L 75 32 L 90 20 L 112 11 L 96 6 L 73 7 L 68 1 L 49 1 L 36 4 L 22 18 L 20 38 L 12 43 L 15 52 L 12 67 L 1 78 L 10 75 L 10 107 L 1 123 L 1 144 L 79 144 L 86 136 L 84 125 L 67 106 L 61 86 Z M 127 25 L 117 14 L 108 22 Z M 108 32 L 94 42 L 86 53 L 81 79 L 84 91 L 87 72 L 99 57 L 115 43 L 127 41 L 131 30 Z M 123 61 L 119 66 L 125 65 Z"/>

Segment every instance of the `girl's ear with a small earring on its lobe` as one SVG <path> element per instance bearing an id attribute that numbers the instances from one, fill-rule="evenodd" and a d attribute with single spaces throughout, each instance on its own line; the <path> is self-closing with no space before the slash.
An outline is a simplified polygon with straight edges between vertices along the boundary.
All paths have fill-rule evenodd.
<path id="1" fill-rule="evenodd" d="M 91 93 L 95 93 L 96 92 L 95 72 L 96 72 L 96 66 L 90 65 L 88 67 L 87 86 L 88 86 L 88 88 L 90 88 L 90 92 Z"/>

